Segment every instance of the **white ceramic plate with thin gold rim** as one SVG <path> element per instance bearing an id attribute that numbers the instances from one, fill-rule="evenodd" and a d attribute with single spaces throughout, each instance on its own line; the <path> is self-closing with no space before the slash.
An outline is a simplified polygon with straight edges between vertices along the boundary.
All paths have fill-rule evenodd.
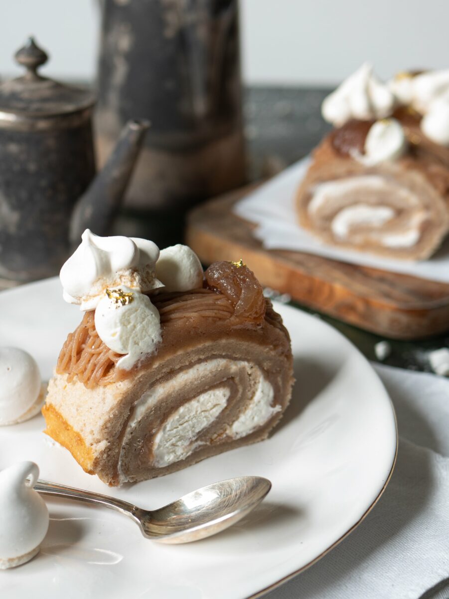
<path id="1" fill-rule="evenodd" d="M 291 405 L 267 441 L 169 476 L 109 489 L 44 434 L 41 416 L 0 428 L 0 468 L 32 459 L 41 477 L 121 497 L 149 509 L 210 482 L 258 474 L 267 499 L 228 531 L 198 543 L 159 545 L 117 513 L 48 500 L 41 553 L 0 573 L 0 597 L 33 599 L 243 599 L 310 565 L 351 531 L 389 480 L 395 415 L 365 358 L 337 331 L 276 305 L 292 337 Z M 28 350 L 49 377 L 80 321 L 50 279 L 0 293 L 0 343 Z"/>

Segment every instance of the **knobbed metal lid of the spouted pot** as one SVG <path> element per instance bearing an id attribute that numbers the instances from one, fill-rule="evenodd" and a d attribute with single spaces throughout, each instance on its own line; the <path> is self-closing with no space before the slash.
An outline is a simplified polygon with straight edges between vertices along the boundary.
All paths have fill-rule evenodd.
<path id="1" fill-rule="evenodd" d="M 26 72 L 22 77 L 0 84 L 0 128 L 23 124 L 27 119 L 36 121 L 73 115 L 93 106 L 95 97 L 88 90 L 38 74 L 39 66 L 47 62 L 48 55 L 32 37 L 17 50 L 15 58 L 25 66 Z"/>

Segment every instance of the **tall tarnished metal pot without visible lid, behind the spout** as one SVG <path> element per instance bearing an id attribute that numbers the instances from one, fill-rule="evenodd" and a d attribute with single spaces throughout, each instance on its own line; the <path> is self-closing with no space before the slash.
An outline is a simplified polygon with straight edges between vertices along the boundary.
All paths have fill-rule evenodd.
<path id="1" fill-rule="evenodd" d="M 151 213 L 151 223 L 165 214 L 164 222 L 173 210 L 179 216 L 198 201 L 242 185 L 239 2 L 102 0 L 101 5 L 100 162 L 132 115 L 152 124 L 127 204 Z"/>

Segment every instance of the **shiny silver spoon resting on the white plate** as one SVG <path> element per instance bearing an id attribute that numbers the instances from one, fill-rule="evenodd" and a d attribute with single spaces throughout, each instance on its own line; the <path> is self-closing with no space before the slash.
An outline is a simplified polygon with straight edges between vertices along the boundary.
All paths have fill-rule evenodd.
<path id="1" fill-rule="evenodd" d="M 137 522 L 146 539 L 160 543 L 190 543 L 219 533 L 246 516 L 270 491 L 271 482 L 259 476 L 221 480 L 183 495 L 158 510 L 143 510 L 115 497 L 45 480 L 37 480 L 34 488 L 42 495 L 110 507 Z"/>

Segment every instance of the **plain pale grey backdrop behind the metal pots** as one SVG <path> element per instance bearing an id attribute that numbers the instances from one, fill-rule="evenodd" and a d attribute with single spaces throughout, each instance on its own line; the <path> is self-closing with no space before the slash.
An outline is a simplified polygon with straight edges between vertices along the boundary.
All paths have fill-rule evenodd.
<path id="1" fill-rule="evenodd" d="M 448 0 L 241 0 L 248 83 L 335 83 L 363 60 L 388 77 L 405 68 L 449 66 Z M 52 54 L 47 72 L 90 78 L 96 0 L 0 0 L 0 75 L 34 33 Z"/>

